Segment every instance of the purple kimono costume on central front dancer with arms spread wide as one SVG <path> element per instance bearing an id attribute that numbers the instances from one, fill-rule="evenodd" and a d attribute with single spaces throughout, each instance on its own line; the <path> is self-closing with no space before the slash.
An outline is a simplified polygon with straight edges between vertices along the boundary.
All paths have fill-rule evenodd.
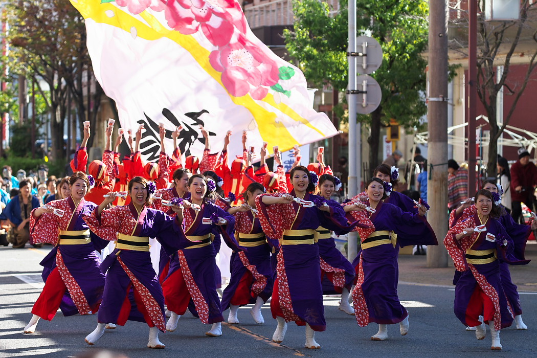
<path id="1" fill-rule="evenodd" d="M 290 193 L 295 195 L 294 190 Z M 317 207 L 304 208 L 296 202 L 266 205 L 263 194 L 256 198 L 256 208 L 263 231 L 272 238 L 280 239 L 277 278 L 272 292 L 272 317 L 283 317 L 303 326 L 306 323 L 314 331 L 325 331 L 323 290 L 319 249 L 315 245 L 315 229 L 334 230 L 338 234 L 349 232 L 354 225 L 347 224 L 345 216 L 338 215 L 333 207 L 330 212 Z M 304 200 L 319 198 L 306 193 Z"/>

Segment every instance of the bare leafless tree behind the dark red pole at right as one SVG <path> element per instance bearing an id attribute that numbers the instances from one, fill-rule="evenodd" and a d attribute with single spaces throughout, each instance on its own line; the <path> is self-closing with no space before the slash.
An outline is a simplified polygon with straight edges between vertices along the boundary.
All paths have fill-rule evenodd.
<path id="1" fill-rule="evenodd" d="M 483 0 L 478 2 L 478 13 L 484 9 Z M 537 73 L 537 30 L 534 27 L 537 3 L 524 0 L 520 4 L 520 18 L 515 21 L 484 21 L 478 17 L 477 25 L 477 97 L 483 104 L 490 125 L 490 142 L 488 149 L 487 175 L 496 176 L 496 160 L 498 155 L 498 140 L 512 118 L 514 109 L 526 89 L 528 81 Z M 532 18 L 533 17 L 533 18 Z M 533 23 L 533 25 L 531 24 Z M 462 20 L 460 27 L 468 27 L 467 20 Z M 523 78 L 509 76 L 513 56 L 519 57 L 517 48 L 524 46 L 526 57 L 526 72 Z M 533 46 L 531 45 L 533 44 Z M 456 39 L 452 41 L 451 48 L 467 55 L 468 42 Z M 517 63 L 519 61 L 517 60 Z M 497 66 L 503 65 L 503 72 L 497 78 Z M 503 123 L 498 123 L 496 101 L 498 93 L 504 89 L 513 96 L 510 108 L 503 118 Z M 505 105 L 505 103 L 504 103 Z"/>

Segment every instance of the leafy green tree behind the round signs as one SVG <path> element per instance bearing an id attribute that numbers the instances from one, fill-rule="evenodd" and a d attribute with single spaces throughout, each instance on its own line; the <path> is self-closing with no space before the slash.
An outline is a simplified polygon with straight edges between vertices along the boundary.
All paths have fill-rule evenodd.
<path id="1" fill-rule="evenodd" d="M 371 30 L 382 46 L 381 67 L 372 76 L 382 89 L 380 106 L 358 120 L 369 125 L 370 167 L 380 163 L 380 128 L 395 119 L 405 128 L 422 125 L 426 114 L 424 92 L 427 61 L 421 55 L 427 46 L 427 3 L 423 0 L 357 0 L 357 34 Z M 331 13 L 317 0 L 293 2 L 293 31 L 284 32 L 289 55 L 298 62 L 306 78 L 339 91 L 347 86 L 347 1 Z"/>

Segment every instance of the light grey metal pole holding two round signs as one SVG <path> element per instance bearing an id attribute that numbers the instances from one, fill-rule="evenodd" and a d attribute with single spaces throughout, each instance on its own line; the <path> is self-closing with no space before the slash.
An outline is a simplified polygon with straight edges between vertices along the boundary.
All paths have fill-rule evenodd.
<path id="1" fill-rule="evenodd" d="M 356 51 L 356 0 L 349 1 L 349 52 Z M 356 57 L 349 56 L 349 90 L 356 90 Z M 356 125 L 358 94 L 349 93 L 349 197 L 358 194 L 358 172 L 360 159 L 359 133 Z M 357 233 L 349 233 L 347 257 L 354 259 L 358 252 Z"/>

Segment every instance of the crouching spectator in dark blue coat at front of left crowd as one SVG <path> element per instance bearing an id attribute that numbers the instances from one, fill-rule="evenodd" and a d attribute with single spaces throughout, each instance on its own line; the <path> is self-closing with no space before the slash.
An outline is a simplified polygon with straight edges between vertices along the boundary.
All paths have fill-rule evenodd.
<path id="1" fill-rule="evenodd" d="M 11 224 L 12 235 L 8 238 L 14 248 L 23 248 L 30 240 L 30 213 L 39 208 L 39 200 L 31 195 L 31 185 L 28 180 L 19 182 L 20 193 L 8 203 L 5 215 Z M 41 247 L 42 244 L 33 245 Z"/>

